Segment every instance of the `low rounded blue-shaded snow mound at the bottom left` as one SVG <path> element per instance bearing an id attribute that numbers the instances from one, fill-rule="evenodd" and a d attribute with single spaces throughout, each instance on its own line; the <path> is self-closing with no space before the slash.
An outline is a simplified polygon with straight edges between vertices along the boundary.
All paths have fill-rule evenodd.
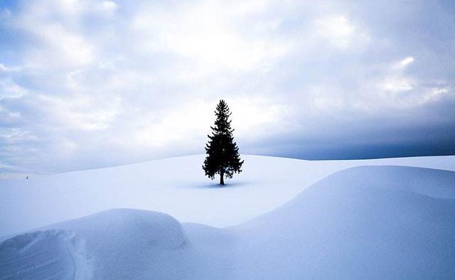
<path id="1" fill-rule="evenodd" d="M 159 212 L 106 210 L 0 243 L 0 279 L 141 279 L 170 274 L 186 237 Z"/>

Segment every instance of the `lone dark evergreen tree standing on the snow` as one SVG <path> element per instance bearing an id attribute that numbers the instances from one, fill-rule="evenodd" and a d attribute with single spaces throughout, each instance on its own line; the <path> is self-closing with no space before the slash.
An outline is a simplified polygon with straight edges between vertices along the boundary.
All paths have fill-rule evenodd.
<path id="1" fill-rule="evenodd" d="M 240 173 L 243 161 L 240 161 L 239 149 L 234 142 L 230 127 L 230 112 L 228 104 L 222 99 L 218 103 L 215 115 L 215 126 L 210 126 L 212 136 L 208 135 L 208 143 L 205 145 L 204 165 L 205 175 L 213 180 L 215 174 L 220 174 L 220 185 L 224 185 L 224 176 L 232 178 L 234 173 Z"/>

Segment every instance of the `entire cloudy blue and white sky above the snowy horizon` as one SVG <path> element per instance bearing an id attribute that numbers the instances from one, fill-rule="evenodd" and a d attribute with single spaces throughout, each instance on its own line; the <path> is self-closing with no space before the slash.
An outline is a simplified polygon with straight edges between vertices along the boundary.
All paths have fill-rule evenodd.
<path id="1" fill-rule="evenodd" d="M 375 2 L 375 3 L 373 3 Z M 0 178 L 203 154 L 455 154 L 454 1 L 0 0 Z"/>

